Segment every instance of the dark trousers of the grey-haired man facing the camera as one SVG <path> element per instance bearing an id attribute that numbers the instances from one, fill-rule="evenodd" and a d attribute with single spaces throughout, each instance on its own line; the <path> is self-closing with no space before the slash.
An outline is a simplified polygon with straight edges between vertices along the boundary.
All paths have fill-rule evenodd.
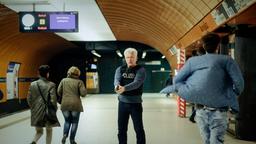
<path id="1" fill-rule="evenodd" d="M 127 129 L 131 115 L 134 130 L 136 132 L 137 144 L 146 144 L 145 131 L 142 121 L 141 103 L 124 103 L 119 101 L 118 105 L 118 140 L 119 144 L 127 144 Z"/>

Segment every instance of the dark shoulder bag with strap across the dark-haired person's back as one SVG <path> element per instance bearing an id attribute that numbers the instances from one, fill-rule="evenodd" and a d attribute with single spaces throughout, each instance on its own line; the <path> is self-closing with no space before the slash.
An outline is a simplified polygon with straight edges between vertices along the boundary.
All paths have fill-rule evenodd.
<path id="1" fill-rule="evenodd" d="M 57 109 L 55 108 L 55 106 L 52 104 L 52 102 L 50 100 L 50 98 L 51 98 L 50 90 L 51 89 L 48 91 L 47 101 L 46 101 L 45 98 L 43 97 L 42 91 L 41 91 L 38 83 L 37 83 L 37 87 L 38 87 L 39 93 L 44 101 L 44 104 L 45 104 L 45 113 L 44 113 L 43 120 L 45 122 L 49 122 L 50 124 L 58 123 L 58 118 L 56 115 Z"/>

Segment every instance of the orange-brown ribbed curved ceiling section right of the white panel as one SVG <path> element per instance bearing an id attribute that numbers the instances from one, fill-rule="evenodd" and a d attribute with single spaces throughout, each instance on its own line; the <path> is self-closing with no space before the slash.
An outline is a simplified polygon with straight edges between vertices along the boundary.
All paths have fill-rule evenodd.
<path id="1" fill-rule="evenodd" d="M 165 53 L 222 0 L 97 0 L 117 40 Z"/>

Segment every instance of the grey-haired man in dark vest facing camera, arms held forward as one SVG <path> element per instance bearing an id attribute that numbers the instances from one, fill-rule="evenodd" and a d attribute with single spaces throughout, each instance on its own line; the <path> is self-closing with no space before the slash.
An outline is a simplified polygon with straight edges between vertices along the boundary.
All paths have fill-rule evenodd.
<path id="1" fill-rule="evenodd" d="M 145 132 L 142 121 L 142 90 L 146 77 L 145 69 L 137 65 L 137 50 L 127 48 L 124 51 L 126 65 L 116 69 L 114 86 L 118 94 L 118 140 L 127 144 L 127 127 L 132 117 L 137 144 L 145 144 Z"/>

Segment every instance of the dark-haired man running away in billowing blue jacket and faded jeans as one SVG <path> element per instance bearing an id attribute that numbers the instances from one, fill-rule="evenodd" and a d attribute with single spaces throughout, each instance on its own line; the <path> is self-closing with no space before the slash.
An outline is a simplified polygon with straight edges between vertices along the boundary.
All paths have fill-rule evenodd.
<path id="1" fill-rule="evenodd" d="M 197 104 L 196 122 L 204 144 L 222 144 L 227 111 L 229 108 L 239 111 L 237 96 L 244 89 L 244 80 L 230 56 L 217 54 L 220 43 L 217 34 L 206 34 L 202 42 L 206 54 L 191 57 L 174 78 L 174 85 L 161 93 L 176 92 Z"/>

